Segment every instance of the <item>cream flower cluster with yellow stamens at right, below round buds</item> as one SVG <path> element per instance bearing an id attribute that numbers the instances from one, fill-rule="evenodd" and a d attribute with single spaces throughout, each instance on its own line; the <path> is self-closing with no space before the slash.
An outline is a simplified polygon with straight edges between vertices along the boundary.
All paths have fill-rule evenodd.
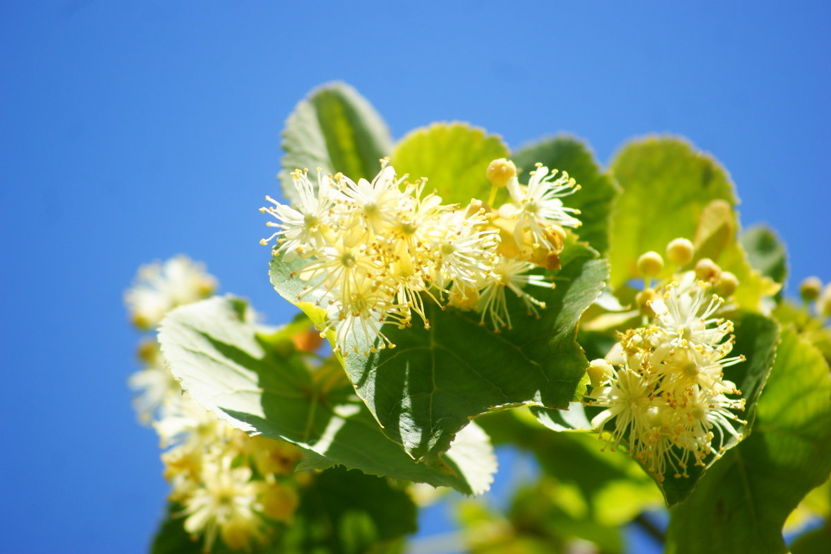
<path id="1" fill-rule="evenodd" d="M 728 356 L 733 323 L 718 317 L 725 299 L 714 292 L 724 280 L 710 260 L 697 270 L 676 275 L 662 293 L 647 288 L 647 325 L 623 333 L 588 370 L 587 404 L 607 408 L 593 427 L 611 433 L 612 449 L 625 439 L 632 457 L 659 480 L 669 469 L 687 477 L 690 463 L 720 455 L 728 435 L 740 440 L 736 427 L 745 423 L 733 411 L 744 409 L 745 400 L 730 398 L 740 391 L 724 378 L 726 367 L 745 359 Z"/>

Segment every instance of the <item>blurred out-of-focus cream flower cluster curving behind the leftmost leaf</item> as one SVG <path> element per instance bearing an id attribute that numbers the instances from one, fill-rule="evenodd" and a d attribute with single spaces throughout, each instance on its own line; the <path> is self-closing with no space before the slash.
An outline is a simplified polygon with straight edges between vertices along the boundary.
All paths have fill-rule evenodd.
<path id="1" fill-rule="evenodd" d="M 178 256 L 140 268 L 125 295 L 136 326 L 156 326 L 175 306 L 213 291 L 214 277 L 201 264 Z M 288 522 L 297 507 L 304 473 L 294 473 L 300 450 L 282 441 L 249 438 L 184 394 L 167 369 L 156 341 L 144 341 L 145 367 L 130 376 L 138 391 L 135 409 L 160 436 L 170 500 L 182 505 L 184 529 L 204 538 L 209 552 L 221 537 L 233 550 L 262 542 L 268 520 Z"/>

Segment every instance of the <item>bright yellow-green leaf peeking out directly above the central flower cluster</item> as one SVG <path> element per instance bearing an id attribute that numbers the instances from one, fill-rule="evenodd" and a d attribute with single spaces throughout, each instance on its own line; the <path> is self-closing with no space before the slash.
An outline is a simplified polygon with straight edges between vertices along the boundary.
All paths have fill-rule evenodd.
<path id="1" fill-rule="evenodd" d="M 411 131 L 396 145 L 392 165 L 399 175 L 426 177 L 445 203 L 467 205 L 470 199 L 488 199 L 488 164 L 506 158 L 508 147 L 498 135 L 466 123 L 434 123 Z"/>

